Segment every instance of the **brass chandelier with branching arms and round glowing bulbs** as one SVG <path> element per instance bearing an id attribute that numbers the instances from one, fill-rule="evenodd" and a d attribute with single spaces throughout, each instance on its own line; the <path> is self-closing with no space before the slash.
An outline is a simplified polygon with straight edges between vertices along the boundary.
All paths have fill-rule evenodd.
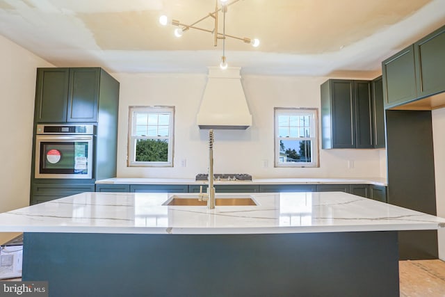
<path id="1" fill-rule="evenodd" d="M 213 34 L 213 45 L 215 47 L 218 45 L 218 39 L 222 39 L 223 40 L 223 56 L 221 56 L 220 67 L 222 69 L 226 69 L 228 66 L 227 59 L 225 57 L 225 39 L 226 38 L 238 39 L 245 43 L 250 43 L 253 47 L 259 46 L 259 40 L 257 38 L 254 38 L 254 39 L 247 38 L 247 37 L 240 38 L 240 37 L 236 37 L 234 35 L 229 35 L 229 34 L 225 33 L 225 14 L 227 13 L 227 7 L 231 6 L 233 3 L 236 3 L 238 1 L 239 0 L 234 0 L 231 2 L 229 2 L 228 0 L 216 0 L 215 11 L 213 11 L 213 13 L 209 13 L 208 15 L 206 15 L 205 17 L 202 17 L 201 19 L 198 19 L 196 22 L 193 22 L 192 24 L 183 24 L 183 23 L 179 22 L 177 19 L 172 19 L 170 21 L 166 15 L 161 15 L 161 17 L 159 17 L 159 23 L 163 26 L 166 26 L 169 22 L 171 22 L 171 24 L 173 26 L 177 26 L 177 29 L 175 29 L 175 36 L 177 38 L 181 37 L 182 34 L 185 31 L 187 31 L 188 29 L 197 29 L 200 31 L 206 31 L 206 32 L 212 33 Z M 218 6 L 218 3 L 220 4 L 220 6 Z M 223 33 L 218 32 L 218 19 L 219 19 L 218 15 L 220 12 L 223 13 Z M 214 19 L 213 29 L 204 29 L 204 28 L 195 26 L 196 24 L 202 22 L 204 19 L 207 19 L 208 17 L 213 17 L 213 19 Z"/>

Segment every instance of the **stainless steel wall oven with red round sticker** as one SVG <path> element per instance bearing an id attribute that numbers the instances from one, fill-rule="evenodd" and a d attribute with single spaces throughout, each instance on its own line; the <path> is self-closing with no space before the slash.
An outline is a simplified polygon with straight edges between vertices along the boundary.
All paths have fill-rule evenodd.
<path id="1" fill-rule="evenodd" d="M 35 178 L 91 179 L 94 125 L 37 125 Z"/>

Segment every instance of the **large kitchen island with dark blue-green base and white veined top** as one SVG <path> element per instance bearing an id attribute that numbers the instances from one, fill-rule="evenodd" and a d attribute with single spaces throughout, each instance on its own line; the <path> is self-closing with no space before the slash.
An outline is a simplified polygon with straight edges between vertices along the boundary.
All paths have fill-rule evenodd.
<path id="1" fill-rule="evenodd" d="M 398 230 L 445 219 L 348 193 L 82 193 L 0 214 L 50 296 L 398 296 Z"/>

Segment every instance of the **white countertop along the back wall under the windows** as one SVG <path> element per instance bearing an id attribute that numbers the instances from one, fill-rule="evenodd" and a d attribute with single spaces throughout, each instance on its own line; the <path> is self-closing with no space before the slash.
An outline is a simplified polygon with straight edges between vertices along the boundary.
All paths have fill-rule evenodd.
<path id="1" fill-rule="evenodd" d="M 207 184 L 204 181 L 186 178 L 144 178 L 115 177 L 98 180 L 96 184 Z M 348 177 L 348 178 L 261 178 L 252 181 L 216 181 L 215 184 L 374 184 L 387 186 L 387 179 L 382 177 Z"/>

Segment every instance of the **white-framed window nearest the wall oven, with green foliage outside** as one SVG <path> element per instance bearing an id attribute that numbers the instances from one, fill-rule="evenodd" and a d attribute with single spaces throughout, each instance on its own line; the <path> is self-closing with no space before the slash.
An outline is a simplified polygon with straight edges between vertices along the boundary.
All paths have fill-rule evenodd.
<path id="1" fill-rule="evenodd" d="M 130 106 L 128 166 L 173 166 L 174 106 Z"/>

